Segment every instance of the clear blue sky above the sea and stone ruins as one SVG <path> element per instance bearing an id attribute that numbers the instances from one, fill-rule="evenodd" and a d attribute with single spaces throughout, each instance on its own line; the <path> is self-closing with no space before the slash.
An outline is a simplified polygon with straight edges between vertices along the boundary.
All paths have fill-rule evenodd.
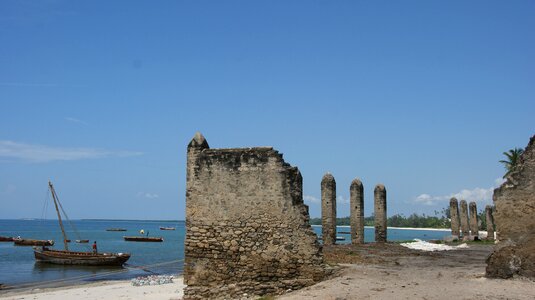
<path id="1" fill-rule="evenodd" d="M 388 214 L 483 208 L 535 133 L 533 1 L 1 1 L 0 218 L 183 219 L 186 145 L 271 145 Z M 53 217 L 51 211 L 45 214 Z"/>

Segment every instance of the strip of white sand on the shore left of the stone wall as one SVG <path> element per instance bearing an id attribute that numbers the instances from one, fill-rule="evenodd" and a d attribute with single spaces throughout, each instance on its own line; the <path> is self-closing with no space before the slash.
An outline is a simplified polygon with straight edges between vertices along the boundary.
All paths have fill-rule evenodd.
<path id="1" fill-rule="evenodd" d="M 177 277 L 173 283 L 162 285 L 132 286 L 128 281 L 103 281 L 94 284 L 78 285 L 73 287 L 33 289 L 31 291 L 13 292 L 0 295 L 2 299 L 12 300 L 116 300 L 116 299 L 147 299 L 169 300 L 182 299 L 184 295 L 183 277 Z"/>

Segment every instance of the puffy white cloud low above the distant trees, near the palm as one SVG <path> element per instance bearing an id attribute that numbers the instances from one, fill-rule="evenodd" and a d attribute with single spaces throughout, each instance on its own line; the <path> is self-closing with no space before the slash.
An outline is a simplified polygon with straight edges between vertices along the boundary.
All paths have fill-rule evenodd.
<path id="1" fill-rule="evenodd" d="M 492 194 L 494 189 L 500 186 L 504 180 L 502 178 L 497 178 L 494 180 L 494 186 L 488 189 L 476 187 L 474 189 L 463 189 L 460 192 L 452 193 L 449 195 L 442 196 L 432 196 L 429 194 L 421 194 L 416 197 L 413 202 L 423 205 L 437 205 L 442 202 L 447 203 L 451 198 L 455 197 L 458 200 L 466 200 L 467 202 L 490 202 L 492 200 Z"/>

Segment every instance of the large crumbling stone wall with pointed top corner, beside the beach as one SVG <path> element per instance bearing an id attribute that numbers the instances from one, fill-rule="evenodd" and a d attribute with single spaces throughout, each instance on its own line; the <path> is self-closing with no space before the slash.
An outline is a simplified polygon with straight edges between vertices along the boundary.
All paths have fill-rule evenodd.
<path id="1" fill-rule="evenodd" d="M 184 299 L 276 294 L 320 280 L 299 170 L 271 147 L 188 145 Z"/>

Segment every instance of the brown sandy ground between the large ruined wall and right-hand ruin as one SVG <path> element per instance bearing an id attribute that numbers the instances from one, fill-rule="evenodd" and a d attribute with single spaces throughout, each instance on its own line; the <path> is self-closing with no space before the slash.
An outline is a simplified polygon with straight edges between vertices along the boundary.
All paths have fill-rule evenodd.
<path id="1" fill-rule="evenodd" d="M 277 299 L 533 299 L 534 281 L 484 277 L 491 249 L 477 244 L 439 252 L 397 244 L 331 247 L 325 257 L 340 262 L 335 276 Z"/>

